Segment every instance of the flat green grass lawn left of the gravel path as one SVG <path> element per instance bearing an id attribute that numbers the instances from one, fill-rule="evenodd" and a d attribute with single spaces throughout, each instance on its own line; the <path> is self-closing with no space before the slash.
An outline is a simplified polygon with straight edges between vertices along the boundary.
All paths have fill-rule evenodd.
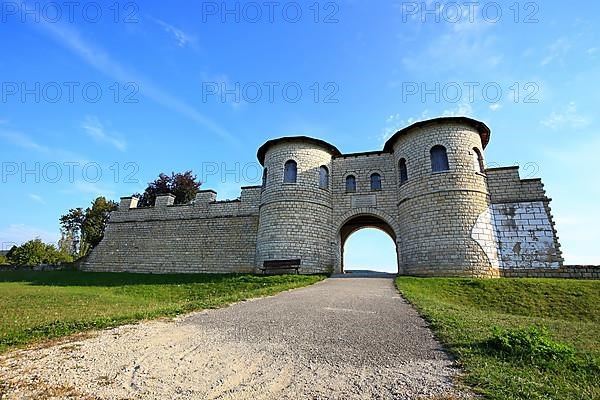
<path id="1" fill-rule="evenodd" d="M 84 330 L 221 307 L 323 278 L 0 271 L 0 352 Z"/>

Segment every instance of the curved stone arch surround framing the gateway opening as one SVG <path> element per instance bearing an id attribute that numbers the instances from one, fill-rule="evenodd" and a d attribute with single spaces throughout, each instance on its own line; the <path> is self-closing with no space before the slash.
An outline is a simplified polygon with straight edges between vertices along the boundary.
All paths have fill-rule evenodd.
<path id="1" fill-rule="evenodd" d="M 375 228 L 387 233 L 396 245 L 396 262 L 398 273 L 402 273 L 400 263 L 400 237 L 394 219 L 382 211 L 375 209 L 357 209 L 346 213 L 336 227 L 337 257 L 335 272 L 344 272 L 344 245 L 354 232 L 363 228 Z"/>

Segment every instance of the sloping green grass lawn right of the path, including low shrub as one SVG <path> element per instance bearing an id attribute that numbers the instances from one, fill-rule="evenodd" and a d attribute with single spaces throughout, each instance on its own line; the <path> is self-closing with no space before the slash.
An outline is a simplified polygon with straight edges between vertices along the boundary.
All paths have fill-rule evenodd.
<path id="1" fill-rule="evenodd" d="M 600 281 L 400 277 L 396 285 L 484 397 L 600 399 Z"/>

